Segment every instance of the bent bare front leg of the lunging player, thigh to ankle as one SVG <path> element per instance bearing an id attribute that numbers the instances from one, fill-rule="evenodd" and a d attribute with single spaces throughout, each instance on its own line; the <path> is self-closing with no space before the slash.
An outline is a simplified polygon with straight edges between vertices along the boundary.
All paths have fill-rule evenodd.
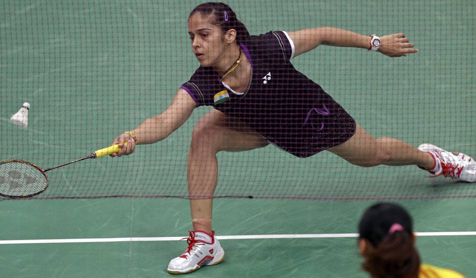
<path id="1" fill-rule="evenodd" d="M 241 152 L 268 145 L 246 124 L 218 110 L 207 113 L 193 130 L 187 174 L 190 211 L 194 230 L 212 231 L 213 194 L 217 186 L 220 151 Z"/>

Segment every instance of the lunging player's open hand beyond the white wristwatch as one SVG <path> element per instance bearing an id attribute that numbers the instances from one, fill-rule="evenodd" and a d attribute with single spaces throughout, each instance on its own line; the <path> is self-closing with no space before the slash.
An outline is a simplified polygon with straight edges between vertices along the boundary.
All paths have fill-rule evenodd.
<path id="1" fill-rule="evenodd" d="M 388 57 L 401 57 L 418 52 L 414 46 L 404 33 L 398 33 L 380 37 L 380 47 L 377 51 Z"/>

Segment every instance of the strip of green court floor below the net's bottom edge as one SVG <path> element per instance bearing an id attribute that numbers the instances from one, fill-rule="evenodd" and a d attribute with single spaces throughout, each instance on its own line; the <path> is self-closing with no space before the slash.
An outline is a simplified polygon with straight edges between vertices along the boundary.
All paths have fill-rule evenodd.
<path id="1" fill-rule="evenodd" d="M 352 234 L 370 201 L 216 200 L 217 236 Z M 417 232 L 476 231 L 472 199 L 400 202 Z M 186 237 L 178 199 L 0 202 L 2 240 Z M 221 240 L 226 259 L 190 277 L 367 277 L 355 238 Z M 476 274 L 476 236 L 418 237 L 422 261 Z M 184 241 L 1 245 L 3 277 L 172 277 Z"/>

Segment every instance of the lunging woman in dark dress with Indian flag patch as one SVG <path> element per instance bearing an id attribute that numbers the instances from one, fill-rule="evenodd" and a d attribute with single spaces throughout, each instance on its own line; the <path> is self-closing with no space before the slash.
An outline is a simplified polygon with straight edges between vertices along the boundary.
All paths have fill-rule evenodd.
<path id="1" fill-rule="evenodd" d="M 216 154 L 221 151 L 249 151 L 271 143 L 301 158 L 327 150 L 364 167 L 418 165 L 435 176 L 476 180 L 476 163 L 466 155 L 430 144 L 417 149 L 394 138 L 372 137 L 290 62 L 322 44 L 368 49 L 389 57 L 418 52 L 404 34 L 378 37 L 322 27 L 250 35 L 222 3 L 197 6 L 188 18 L 188 33 L 200 67 L 162 114 L 115 138 L 113 144 L 122 149 L 112 154 L 128 155 L 136 144 L 164 140 L 194 108 L 214 107 L 193 130 L 187 162 L 193 231 L 187 250 L 170 262 L 170 273 L 191 272 L 224 258 L 212 230 Z M 129 144 L 124 146 L 126 141 Z"/>

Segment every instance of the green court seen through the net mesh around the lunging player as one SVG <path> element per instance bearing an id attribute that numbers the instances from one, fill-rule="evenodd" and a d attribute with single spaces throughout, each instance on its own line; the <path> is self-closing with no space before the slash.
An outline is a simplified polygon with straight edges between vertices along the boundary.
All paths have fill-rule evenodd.
<path id="1" fill-rule="evenodd" d="M 187 18 L 200 2 L 45 0 L 0 3 L 0 160 L 47 168 L 107 146 L 164 111 L 199 66 Z M 476 156 L 473 1 L 231 1 L 251 34 L 333 26 L 361 34 L 404 32 L 420 50 L 389 58 L 321 46 L 291 62 L 374 137 L 432 143 Z M 265 76 L 264 76 L 265 77 Z M 276 87 L 279 90 L 279 86 Z M 28 127 L 10 122 L 29 102 Z M 122 158 L 49 173 L 34 198 L 179 197 L 195 124 Z M 213 196 L 320 200 L 474 197 L 476 187 L 428 178 L 416 166 L 363 168 L 322 152 L 306 159 L 273 145 L 220 152 Z M 210 172 L 203 172 L 209 179 Z M 4 177 L 8 182 L 13 177 Z M 199 194 L 200 195 L 200 194 Z"/>

